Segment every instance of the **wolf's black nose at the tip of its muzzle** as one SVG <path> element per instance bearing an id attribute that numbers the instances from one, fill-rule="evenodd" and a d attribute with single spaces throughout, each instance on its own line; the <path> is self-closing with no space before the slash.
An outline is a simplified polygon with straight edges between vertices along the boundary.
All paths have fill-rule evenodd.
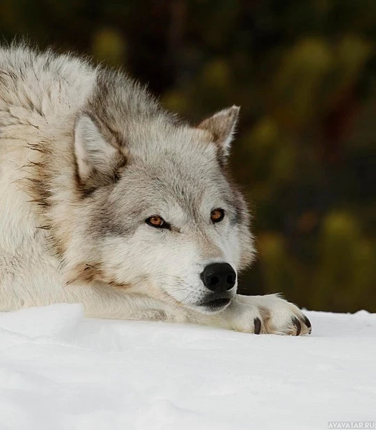
<path id="1" fill-rule="evenodd" d="M 212 291 L 225 292 L 235 285 L 236 273 L 228 263 L 213 263 L 205 267 L 201 279 L 205 287 Z"/>

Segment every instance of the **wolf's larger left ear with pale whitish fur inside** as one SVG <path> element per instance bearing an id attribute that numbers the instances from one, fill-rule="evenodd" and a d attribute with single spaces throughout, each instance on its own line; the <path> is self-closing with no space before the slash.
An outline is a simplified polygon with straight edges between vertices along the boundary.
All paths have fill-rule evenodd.
<path id="1" fill-rule="evenodd" d="M 75 156 L 79 180 L 86 189 L 95 189 L 116 180 L 125 157 L 102 136 L 93 120 L 83 114 L 75 127 Z"/>

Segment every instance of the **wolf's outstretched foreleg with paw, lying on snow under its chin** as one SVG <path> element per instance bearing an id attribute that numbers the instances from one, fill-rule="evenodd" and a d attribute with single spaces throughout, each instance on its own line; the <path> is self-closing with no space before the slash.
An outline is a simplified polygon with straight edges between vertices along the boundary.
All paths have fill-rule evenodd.
<path id="1" fill-rule="evenodd" d="M 73 294 L 72 294 L 73 293 Z M 299 335 L 311 333 L 311 324 L 296 305 L 278 294 L 237 295 L 228 308 L 214 314 L 185 308 L 147 294 L 84 287 L 71 290 L 69 301 L 84 305 L 88 317 L 167 321 L 216 326 L 244 333 Z"/>

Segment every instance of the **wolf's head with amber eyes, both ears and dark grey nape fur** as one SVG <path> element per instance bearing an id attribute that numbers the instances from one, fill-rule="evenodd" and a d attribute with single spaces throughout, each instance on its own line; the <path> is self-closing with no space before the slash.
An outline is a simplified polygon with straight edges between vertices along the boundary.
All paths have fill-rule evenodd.
<path id="1" fill-rule="evenodd" d="M 253 257 L 246 204 L 226 168 L 239 108 L 191 127 L 132 85 L 99 80 L 77 116 L 81 198 L 68 273 L 217 312 Z"/>

